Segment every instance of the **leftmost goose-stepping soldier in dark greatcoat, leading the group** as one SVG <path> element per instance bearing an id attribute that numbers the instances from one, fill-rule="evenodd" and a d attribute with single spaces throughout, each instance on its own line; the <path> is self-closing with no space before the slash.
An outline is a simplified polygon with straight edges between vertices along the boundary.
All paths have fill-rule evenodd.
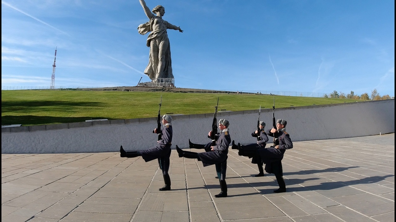
<path id="1" fill-rule="evenodd" d="M 164 128 L 161 130 L 162 139 L 158 140 L 158 145 L 152 149 L 141 150 L 141 151 L 124 151 L 122 146 L 120 147 L 121 157 L 137 157 L 142 156 L 143 159 L 148 162 L 158 158 L 158 164 L 162 169 L 162 175 L 164 176 L 165 186 L 158 189 L 160 191 L 171 190 L 171 179 L 168 174 L 169 170 L 169 157 L 171 156 L 171 142 L 172 142 L 172 117 L 169 115 L 164 115 L 162 117 L 162 124 Z M 157 133 L 157 129 L 153 130 L 153 133 Z"/>

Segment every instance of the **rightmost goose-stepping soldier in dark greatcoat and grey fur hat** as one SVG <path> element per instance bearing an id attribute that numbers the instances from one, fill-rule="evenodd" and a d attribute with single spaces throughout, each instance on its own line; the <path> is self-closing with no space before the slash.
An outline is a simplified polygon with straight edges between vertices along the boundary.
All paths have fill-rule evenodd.
<path id="1" fill-rule="evenodd" d="M 263 163 L 265 163 L 265 171 L 267 173 L 275 174 L 279 189 L 274 190 L 275 193 L 286 192 L 286 184 L 283 180 L 282 159 L 287 149 L 293 148 L 289 134 L 286 132 L 286 120 L 278 119 L 276 121 L 276 128 L 267 130 L 269 136 L 277 138 L 274 147 L 267 149 L 245 149 L 238 144 L 238 154 L 240 156 L 260 156 Z"/>

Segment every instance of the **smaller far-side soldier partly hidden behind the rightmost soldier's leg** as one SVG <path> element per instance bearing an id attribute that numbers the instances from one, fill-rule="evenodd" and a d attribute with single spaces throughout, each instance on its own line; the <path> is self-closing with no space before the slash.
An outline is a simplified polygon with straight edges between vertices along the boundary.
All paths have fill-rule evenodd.
<path id="1" fill-rule="evenodd" d="M 267 145 L 267 141 L 268 141 L 268 136 L 264 130 L 265 122 L 260 121 L 259 127 L 260 127 L 260 132 L 257 132 L 257 130 L 256 130 L 255 132 L 251 133 L 252 137 L 260 136 L 260 140 L 258 140 L 257 143 L 251 143 L 248 145 L 240 145 L 240 143 L 238 143 L 238 146 L 244 147 L 244 149 L 263 149 L 263 148 L 265 148 L 265 145 Z M 238 146 L 235 145 L 234 141 L 232 141 L 231 149 L 238 149 Z M 257 167 L 259 167 L 259 174 L 255 175 L 255 177 L 265 176 L 264 169 L 263 169 L 263 161 L 261 160 L 260 156 L 258 156 L 258 155 L 249 156 L 249 158 L 251 158 L 252 164 L 257 164 Z"/>

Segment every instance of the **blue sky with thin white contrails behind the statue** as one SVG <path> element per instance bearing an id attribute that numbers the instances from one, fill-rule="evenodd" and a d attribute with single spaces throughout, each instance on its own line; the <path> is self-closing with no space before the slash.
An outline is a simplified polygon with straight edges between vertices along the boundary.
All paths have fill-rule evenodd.
<path id="1" fill-rule="evenodd" d="M 394 96 L 393 0 L 146 0 L 165 7 L 175 86 Z M 150 81 L 138 0 L 2 0 L 2 89 Z"/>

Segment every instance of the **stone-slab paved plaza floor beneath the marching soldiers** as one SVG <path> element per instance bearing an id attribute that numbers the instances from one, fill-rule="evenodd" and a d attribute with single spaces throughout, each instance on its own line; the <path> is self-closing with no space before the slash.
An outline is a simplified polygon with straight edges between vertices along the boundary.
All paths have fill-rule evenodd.
<path id="1" fill-rule="evenodd" d="M 257 165 L 230 149 L 227 198 L 214 197 L 214 166 L 175 150 L 166 192 L 157 161 L 117 152 L 2 154 L 2 221 L 394 221 L 394 134 L 293 144 L 281 194 L 274 175 L 254 177 Z"/>

